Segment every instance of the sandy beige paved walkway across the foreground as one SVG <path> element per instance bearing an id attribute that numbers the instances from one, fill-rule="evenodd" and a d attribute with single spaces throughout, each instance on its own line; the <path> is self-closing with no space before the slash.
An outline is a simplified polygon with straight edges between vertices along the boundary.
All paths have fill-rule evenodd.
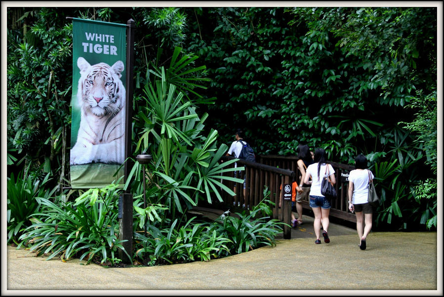
<path id="1" fill-rule="evenodd" d="M 328 232 L 331 242 L 315 245 L 313 218 L 304 220 L 276 247 L 154 267 L 45 260 L 8 246 L 1 295 L 331 295 L 340 290 L 341 296 L 353 296 L 375 294 L 355 290 L 389 290 L 385 295 L 443 296 L 442 237 L 437 240 L 436 232 L 372 232 L 361 251 L 355 230 L 335 224 Z"/>

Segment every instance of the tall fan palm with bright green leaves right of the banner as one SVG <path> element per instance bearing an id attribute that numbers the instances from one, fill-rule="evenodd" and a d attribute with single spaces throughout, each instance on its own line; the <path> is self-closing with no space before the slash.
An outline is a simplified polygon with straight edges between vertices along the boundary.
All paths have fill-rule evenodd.
<path id="1" fill-rule="evenodd" d="M 183 216 L 187 209 L 197 205 L 202 193 L 206 194 L 209 203 L 211 193 L 222 201 L 220 188 L 234 194 L 221 184 L 221 179 L 235 182 L 242 180 L 222 175 L 233 170 L 225 168 L 233 161 L 218 163 L 227 146 L 217 148 L 216 130 L 211 130 L 206 137 L 202 135 L 206 114 L 199 117 L 191 101 L 186 100 L 175 85 L 166 81 L 166 74 L 175 71 L 164 71 L 161 68 L 155 73 L 160 73 L 161 79 L 145 85 L 145 97 L 142 99 L 146 105 L 140 104 L 137 110 L 137 126 L 141 129 L 136 151 L 149 152 L 153 156 L 153 161 L 147 165 L 151 172 L 147 187 L 161 190 L 153 189 L 149 192 L 149 203 L 166 206 L 169 219 L 174 221 Z M 136 162 L 127 178 L 125 189 L 131 184 L 137 184 L 134 181 L 143 182 L 141 176 L 137 175 L 139 170 L 140 164 Z"/>

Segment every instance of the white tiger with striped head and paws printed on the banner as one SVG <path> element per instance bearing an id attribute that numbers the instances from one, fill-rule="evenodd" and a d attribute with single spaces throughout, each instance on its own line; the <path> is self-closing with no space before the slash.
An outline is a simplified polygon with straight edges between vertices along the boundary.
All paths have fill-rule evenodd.
<path id="1" fill-rule="evenodd" d="M 71 148 L 70 164 L 122 164 L 125 148 L 125 88 L 121 81 L 122 61 L 90 65 L 77 60 L 81 77 L 77 103 L 80 126 Z"/>

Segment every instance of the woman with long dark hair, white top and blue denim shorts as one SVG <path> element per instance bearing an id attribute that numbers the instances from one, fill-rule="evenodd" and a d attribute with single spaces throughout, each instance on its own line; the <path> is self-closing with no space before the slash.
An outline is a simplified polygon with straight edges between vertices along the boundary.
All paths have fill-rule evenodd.
<path id="1" fill-rule="evenodd" d="M 323 148 L 316 148 L 315 150 L 315 163 L 309 165 L 305 171 L 304 184 L 310 187 L 310 207 L 315 214 L 315 221 L 313 227 L 316 233 L 316 244 L 320 244 L 319 239 L 321 233 L 321 223 L 323 227 L 322 235 L 324 237 L 324 242 L 329 243 L 328 238 L 328 225 L 330 223 L 328 215 L 330 214 L 330 202 L 321 193 L 321 183 L 324 177 L 330 176 L 331 183 L 336 184 L 336 179 L 334 177 L 334 169 L 330 164 L 326 164 L 327 155 Z M 309 181 L 311 178 L 311 181 Z"/>

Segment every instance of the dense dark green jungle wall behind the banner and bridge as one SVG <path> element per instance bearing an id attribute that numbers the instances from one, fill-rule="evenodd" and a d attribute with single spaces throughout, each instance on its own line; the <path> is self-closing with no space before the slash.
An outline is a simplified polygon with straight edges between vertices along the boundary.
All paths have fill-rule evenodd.
<path id="1" fill-rule="evenodd" d="M 135 21 L 134 155 L 152 148 L 146 86 L 163 68 L 178 101 L 202 115 L 193 131 L 209 136 L 196 139 L 229 146 L 242 128 L 256 154 L 295 155 L 307 144 L 353 165 L 363 153 L 382 200 L 379 228 L 436 228 L 436 7 L 8 7 L 7 175 L 32 175 L 53 188 L 46 196 L 68 195 L 66 17 Z M 186 203 L 198 196 L 168 191 Z M 162 205 L 182 213 L 175 201 Z"/>

